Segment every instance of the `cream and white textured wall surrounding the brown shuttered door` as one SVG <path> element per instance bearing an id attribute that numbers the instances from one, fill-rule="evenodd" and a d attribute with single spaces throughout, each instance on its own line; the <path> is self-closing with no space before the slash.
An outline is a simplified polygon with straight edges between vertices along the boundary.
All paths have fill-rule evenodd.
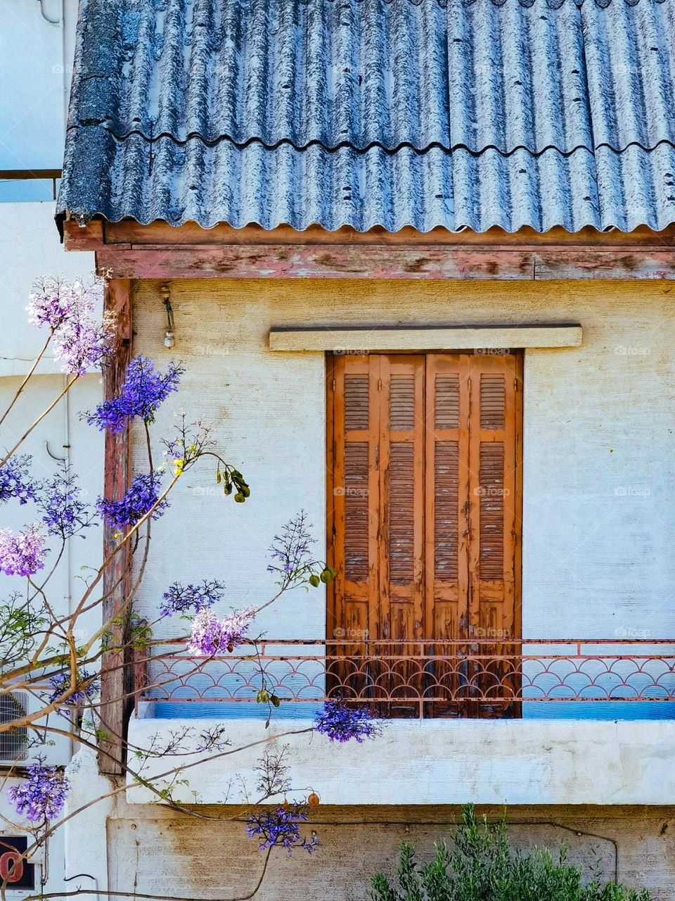
<path id="1" fill-rule="evenodd" d="M 266 549 L 301 508 L 323 552 L 324 357 L 268 350 L 271 327 L 578 322 L 581 348 L 526 352 L 523 633 L 675 635 L 672 283 L 182 281 L 172 284 L 174 350 L 162 346 L 157 288 L 137 291 L 135 350 L 187 371 L 156 431 L 181 407 L 214 423 L 252 496 L 222 498 L 209 469 L 185 477 L 154 527 L 148 617 L 175 578 L 223 578 L 227 605 L 259 603 L 271 588 Z M 365 332 L 360 344 L 376 338 Z M 260 624 L 271 637 L 321 637 L 322 590 L 282 599 Z"/>

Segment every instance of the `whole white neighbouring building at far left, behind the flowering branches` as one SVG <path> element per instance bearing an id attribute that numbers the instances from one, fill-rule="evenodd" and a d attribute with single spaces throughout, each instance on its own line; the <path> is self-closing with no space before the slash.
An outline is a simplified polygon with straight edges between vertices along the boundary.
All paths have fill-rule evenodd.
<path id="1" fill-rule="evenodd" d="M 31 284 L 42 276 L 88 279 L 94 271 L 94 254 L 67 254 L 54 223 L 56 182 L 37 178 L 36 169 L 60 169 L 65 138 L 67 98 L 72 71 L 77 0 L 11 0 L 0 5 L 0 173 L 23 171 L 29 177 L 12 178 L 0 174 L 0 410 L 11 402 L 31 362 L 45 341 L 45 333 L 28 323 L 25 307 Z M 47 20 L 54 20 L 49 23 Z M 58 395 L 64 385 L 60 366 L 49 356 L 26 387 L 20 403 L 3 425 L 0 445 L 14 444 L 24 429 Z M 79 409 L 99 402 L 100 376 L 83 378 L 51 414 L 40 423 L 25 443 L 31 453 L 36 478 L 47 478 L 69 460 L 80 477 L 85 499 L 95 500 L 103 487 L 103 440 L 98 432 L 82 423 Z M 0 527 L 20 529 L 36 518 L 34 506 L 14 502 L 0 509 Z M 90 541 L 70 542 L 70 548 L 51 582 L 50 600 L 58 614 L 66 614 L 82 583 L 82 567 L 98 566 L 101 538 L 95 532 Z M 11 579 L 3 578 L 4 592 Z M 78 623 L 84 639 L 97 628 L 97 614 Z M 66 721 L 59 722 L 63 727 Z M 32 757 L 39 748 L 31 749 Z M 42 749 L 49 763 L 65 765 L 73 751 L 67 736 Z M 0 766 L 3 774 L 7 772 Z M 22 822 L 7 797 L 7 790 L 19 779 L 2 778 L 0 838 L 29 834 L 30 824 Z M 32 859 L 37 866 L 36 887 L 40 892 L 67 890 L 71 875 L 65 859 L 65 833 L 57 832 L 47 846 Z M 26 892 L 11 885 L 8 901 Z M 28 894 L 31 894 L 29 892 Z M 34 894 L 34 892 L 32 893 Z"/>

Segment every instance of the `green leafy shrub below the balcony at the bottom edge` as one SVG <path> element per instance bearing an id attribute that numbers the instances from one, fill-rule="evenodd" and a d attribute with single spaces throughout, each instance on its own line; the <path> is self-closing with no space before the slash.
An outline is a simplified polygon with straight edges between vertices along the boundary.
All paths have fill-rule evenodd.
<path id="1" fill-rule="evenodd" d="M 452 850 L 437 844 L 429 863 L 415 862 L 415 849 L 404 842 L 396 875 L 373 877 L 374 901 L 650 901 L 649 892 L 601 883 L 582 882 L 581 869 L 558 860 L 550 851 L 515 851 L 509 845 L 504 820 L 477 820 L 473 805 L 464 807 Z"/>

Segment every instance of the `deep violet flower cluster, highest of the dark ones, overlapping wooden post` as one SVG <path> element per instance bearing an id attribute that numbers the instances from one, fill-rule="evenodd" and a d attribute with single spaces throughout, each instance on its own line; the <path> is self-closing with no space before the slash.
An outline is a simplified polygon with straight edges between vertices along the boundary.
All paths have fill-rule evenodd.
<path id="1" fill-rule="evenodd" d="M 152 360 L 134 357 L 127 367 L 124 384 L 119 397 L 112 397 L 96 407 L 95 413 L 88 414 L 86 421 L 103 432 L 121 432 L 137 417 L 147 423 L 152 422 L 157 407 L 166 397 L 178 389 L 178 381 L 184 372 L 182 366 L 169 363 L 166 375 L 155 369 Z"/>

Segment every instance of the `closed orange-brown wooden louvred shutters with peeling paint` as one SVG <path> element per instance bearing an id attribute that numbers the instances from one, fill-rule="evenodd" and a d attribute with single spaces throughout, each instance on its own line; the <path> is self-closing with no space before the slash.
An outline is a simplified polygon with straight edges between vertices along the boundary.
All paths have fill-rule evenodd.
<path id="1" fill-rule="evenodd" d="M 430 715 L 506 711 L 503 698 L 476 696 L 518 675 L 508 659 L 514 645 L 504 642 L 518 638 L 520 623 L 520 365 L 513 354 L 371 354 L 329 364 L 329 562 L 338 576 L 327 637 L 351 642 L 334 650 L 351 659 L 340 680 L 351 667 L 362 697 L 432 686 L 448 703 L 427 705 Z M 387 653 L 403 660 L 365 660 L 366 634 L 401 641 Z M 499 669 L 482 651 L 507 660 Z M 407 663 L 407 653 L 435 660 Z M 399 714 L 411 715 L 409 707 Z"/>

